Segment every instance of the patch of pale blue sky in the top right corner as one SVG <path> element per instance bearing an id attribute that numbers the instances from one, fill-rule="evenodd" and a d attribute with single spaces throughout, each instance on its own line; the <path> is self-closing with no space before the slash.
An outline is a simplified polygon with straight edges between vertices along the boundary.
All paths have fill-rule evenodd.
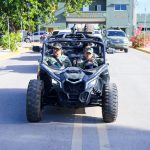
<path id="1" fill-rule="evenodd" d="M 137 0 L 137 13 L 150 13 L 150 0 Z"/>

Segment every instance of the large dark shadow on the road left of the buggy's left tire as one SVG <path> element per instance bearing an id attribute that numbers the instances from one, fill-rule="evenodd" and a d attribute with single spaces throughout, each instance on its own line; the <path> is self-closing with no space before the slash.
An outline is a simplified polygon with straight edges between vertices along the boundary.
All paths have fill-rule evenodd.
<path id="1" fill-rule="evenodd" d="M 25 98 L 25 89 L 0 89 L 0 124 L 27 122 Z"/>

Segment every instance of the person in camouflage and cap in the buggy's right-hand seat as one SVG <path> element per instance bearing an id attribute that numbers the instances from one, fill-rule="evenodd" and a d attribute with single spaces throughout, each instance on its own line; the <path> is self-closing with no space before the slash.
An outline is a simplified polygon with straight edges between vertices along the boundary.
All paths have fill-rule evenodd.
<path id="1" fill-rule="evenodd" d="M 82 69 L 92 69 L 98 67 L 102 61 L 96 58 L 98 55 L 94 54 L 93 48 L 86 46 L 84 49 L 84 60 L 81 63 Z"/>

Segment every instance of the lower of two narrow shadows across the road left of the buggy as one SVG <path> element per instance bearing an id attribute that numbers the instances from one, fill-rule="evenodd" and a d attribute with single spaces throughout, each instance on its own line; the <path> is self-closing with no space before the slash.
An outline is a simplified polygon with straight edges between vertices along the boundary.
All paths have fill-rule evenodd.
<path id="1" fill-rule="evenodd" d="M 0 71 L 17 73 L 37 73 L 37 65 L 10 65 L 0 68 Z"/>

